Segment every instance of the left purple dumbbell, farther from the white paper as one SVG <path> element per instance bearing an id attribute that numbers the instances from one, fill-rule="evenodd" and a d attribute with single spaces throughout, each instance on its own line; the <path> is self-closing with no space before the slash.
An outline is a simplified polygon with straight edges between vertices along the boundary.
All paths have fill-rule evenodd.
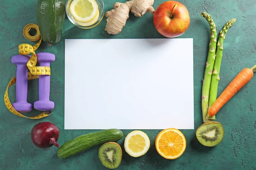
<path id="1" fill-rule="evenodd" d="M 32 105 L 27 102 L 28 95 L 28 68 L 26 63 L 29 55 L 15 55 L 12 63 L 17 65 L 16 72 L 16 102 L 12 103 L 13 108 L 20 113 L 32 111 Z"/>

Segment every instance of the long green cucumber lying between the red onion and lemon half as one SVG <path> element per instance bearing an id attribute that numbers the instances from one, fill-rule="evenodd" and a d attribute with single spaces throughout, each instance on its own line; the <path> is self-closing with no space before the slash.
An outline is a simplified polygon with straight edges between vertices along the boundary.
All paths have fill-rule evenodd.
<path id="1" fill-rule="evenodd" d="M 78 136 L 58 148 L 58 157 L 66 159 L 69 156 L 81 153 L 97 144 L 105 142 L 114 142 L 123 137 L 123 133 L 118 129 L 102 130 L 94 133 L 87 133 Z"/>

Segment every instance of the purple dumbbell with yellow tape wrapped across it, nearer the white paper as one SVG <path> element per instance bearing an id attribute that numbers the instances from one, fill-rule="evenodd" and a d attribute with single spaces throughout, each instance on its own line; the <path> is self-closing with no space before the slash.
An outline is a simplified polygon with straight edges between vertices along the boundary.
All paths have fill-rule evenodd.
<path id="1" fill-rule="evenodd" d="M 40 66 L 50 66 L 55 61 L 55 55 L 51 53 L 36 54 Z M 54 108 L 54 102 L 49 100 L 50 96 L 50 79 L 49 75 L 39 75 L 39 100 L 34 103 L 34 108 L 38 111 L 49 111 Z"/>

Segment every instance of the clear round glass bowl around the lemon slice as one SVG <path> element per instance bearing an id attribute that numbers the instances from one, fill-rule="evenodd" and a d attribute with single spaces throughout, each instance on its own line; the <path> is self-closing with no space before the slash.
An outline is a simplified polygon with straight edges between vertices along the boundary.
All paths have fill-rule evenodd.
<path id="1" fill-rule="evenodd" d="M 76 20 L 73 18 L 73 16 L 71 15 L 70 13 L 70 4 L 72 3 L 73 0 L 67 0 L 67 3 L 66 3 L 66 14 L 67 14 L 67 17 L 68 19 L 71 21 L 71 23 L 73 23 L 75 26 L 79 27 L 79 28 L 83 28 L 83 29 L 90 29 L 90 28 L 93 28 L 95 26 L 97 26 L 103 19 L 103 16 L 104 16 L 104 3 L 102 0 L 95 0 L 96 3 L 98 4 L 98 8 L 99 8 L 99 18 L 98 20 L 96 21 L 96 23 L 94 23 L 93 25 L 91 26 L 81 26 L 79 25 L 79 23 L 76 22 Z"/>

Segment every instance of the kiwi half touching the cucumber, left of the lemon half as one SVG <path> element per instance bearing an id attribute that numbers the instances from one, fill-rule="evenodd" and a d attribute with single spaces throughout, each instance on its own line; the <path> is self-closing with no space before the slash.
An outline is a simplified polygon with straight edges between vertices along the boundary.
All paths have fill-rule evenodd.
<path id="1" fill-rule="evenodd" d="M 116 142 L 108 142 L 99 148 L 99 159 L 102 164 L 109 168 L 114 169 L 119 167 L 122 160 L 122 149 Z"/>

